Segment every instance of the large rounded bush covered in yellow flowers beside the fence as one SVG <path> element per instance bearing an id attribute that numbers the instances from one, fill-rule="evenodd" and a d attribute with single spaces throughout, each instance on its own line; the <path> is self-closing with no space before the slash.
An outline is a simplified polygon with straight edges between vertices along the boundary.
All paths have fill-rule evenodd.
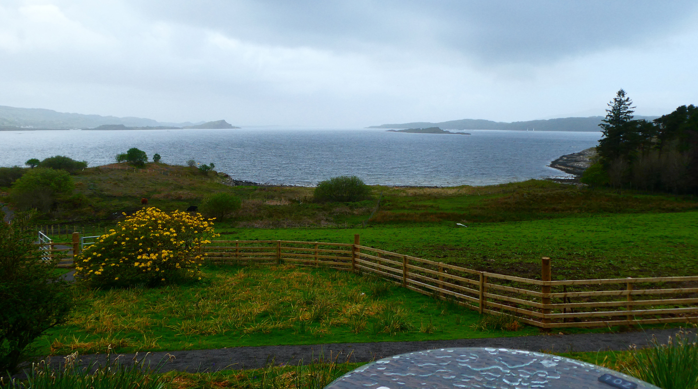
<path id="1" fill-rule="evenodd" d="M 195 279 L 202 259 L 198 247 L 216 236 L 211 220 L 198 213 L 142 209 L 84 247 L 75 275 L 114 287 Z"/>

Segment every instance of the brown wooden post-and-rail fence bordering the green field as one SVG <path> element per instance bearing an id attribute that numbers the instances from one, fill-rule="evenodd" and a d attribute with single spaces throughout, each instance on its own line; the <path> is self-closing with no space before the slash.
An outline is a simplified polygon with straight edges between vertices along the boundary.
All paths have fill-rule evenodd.
<path id="1" fill-rule="evenodd" d="M 79 252 L 76 239 L 79 234 L 73 234 L 74 249 L 63 251 Z M 200 252 L 212 264 L 295 264 L 369 273 L 417 293 L 480 313 L 517 316 L 542 328 L 698 321 L 698 276 L 553 281 L 551 259 L 543 257 L 541 280 L 533 280 L 364 246 L 358 235 L 353 244 L 211 241 Z"/>

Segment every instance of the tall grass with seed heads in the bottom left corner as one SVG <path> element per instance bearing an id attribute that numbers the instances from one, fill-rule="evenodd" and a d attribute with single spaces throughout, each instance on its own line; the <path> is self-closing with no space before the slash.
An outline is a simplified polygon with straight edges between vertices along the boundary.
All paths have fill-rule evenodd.
<path id="1" fill-rule="evenodd" d="M 147 354 L 146 354 L 147 356 Z M 3 379 L 2 389 L 163 389 L 165 383 L 156 375 L 167 360 L 161 360 L 154 370 L 145 365 L 145 358 L 140 361 L 133 358 L 133 363 L 112 360 L 107 351 L 105 365 L 92 362 L 87 367 L 79 367 L 77 352 L 65 358 L 63 366 L 54 369 L 50 363 L 42 360 L 32 364 L 27 372 L 27 379 Z"/>

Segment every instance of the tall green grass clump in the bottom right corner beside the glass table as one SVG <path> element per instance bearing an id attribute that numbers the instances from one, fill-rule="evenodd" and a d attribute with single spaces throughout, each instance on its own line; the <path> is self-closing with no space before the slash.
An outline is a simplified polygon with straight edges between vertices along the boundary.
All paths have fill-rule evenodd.
<path id="1" fill-rule="evenodd" d="M 683 330 L 667 344 L 656 338 L 648 349 L 635 349 L 628 373 L 663 389 L 698 388 L 698 342 Z"/>

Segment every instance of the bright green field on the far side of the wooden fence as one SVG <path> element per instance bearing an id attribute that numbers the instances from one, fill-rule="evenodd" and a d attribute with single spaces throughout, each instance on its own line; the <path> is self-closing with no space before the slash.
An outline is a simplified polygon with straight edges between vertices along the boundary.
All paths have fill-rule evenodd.
<path id="1" fill-rule="evenodd" d="M 353 243 L 540 279 L 551 257 L 553 279 L 698 275 L 698 212 L 585 215 L 551 220 L 366 229 L 228 229 L 230 240 Z"/>

